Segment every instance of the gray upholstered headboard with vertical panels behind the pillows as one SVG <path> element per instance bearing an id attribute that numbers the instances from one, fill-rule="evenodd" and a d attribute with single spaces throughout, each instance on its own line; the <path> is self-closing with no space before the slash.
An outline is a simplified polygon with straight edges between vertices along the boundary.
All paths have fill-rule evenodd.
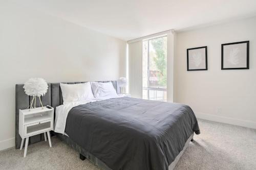
<path id="1" fill-rule="evenodd" d="M 117 94 L 120 93 L 120 87 L 117 81 L 100 81 L 100 82 L 112 82 L 114 88 L 117 91 Z M 71 82 L 67 84 L 78 84 L 85 82 Z M 22 142 L 22 138 L 18 133 L 18 118 L 19 118 L 19 109 L 27 109 L 32 100 L 31 96 L 28 96 L 24 92 L 23 88 L 24 84 L 16 84 L 15 86 L 15 148 L 18 149 L 20 147 L 20 143 Z M 41 97 L 42 104 L 44 106 L 50 105 L 54 107 L 54 110 L 57 106 L 62 105 L 62 94 L 59 83 L 48 83 L 48 91 L 45 96 Z M 36 107 L 40 107 L 39 100 L 36 100 Z M 29 138 L 29 144 L 39 142 L 44 140 L 44 135 L 39 134 Z"/>

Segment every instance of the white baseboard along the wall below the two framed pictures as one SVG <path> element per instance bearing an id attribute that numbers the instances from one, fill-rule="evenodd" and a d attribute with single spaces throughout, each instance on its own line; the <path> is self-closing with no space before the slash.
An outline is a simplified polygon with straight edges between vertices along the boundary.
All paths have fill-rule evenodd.
<path id="1" fill-rule="evenodd" d="M 201 119 L 256 129 L 256 122 L 251 122 L 249 120 L 241 120 L 241 119 L 230 118 L 230 117 L 214 115 L 214 114 L 206 114 L 201 112 L 195 112 L 195 114 L 197 118 L 201 118 Z"/>

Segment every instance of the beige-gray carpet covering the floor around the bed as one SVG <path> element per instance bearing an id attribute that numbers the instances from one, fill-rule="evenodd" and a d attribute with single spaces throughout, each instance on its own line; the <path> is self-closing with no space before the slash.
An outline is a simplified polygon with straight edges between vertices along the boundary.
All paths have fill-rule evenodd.
<path id="1" fill-rule="evenodd" d="M 194 135 L 176 166 L 178 169 L 256 169 L 256 130 L 199 119 L 200 135 Z M 0 152 L 0 169 L 99 169 L 57 137 L 24 150 Z"/>

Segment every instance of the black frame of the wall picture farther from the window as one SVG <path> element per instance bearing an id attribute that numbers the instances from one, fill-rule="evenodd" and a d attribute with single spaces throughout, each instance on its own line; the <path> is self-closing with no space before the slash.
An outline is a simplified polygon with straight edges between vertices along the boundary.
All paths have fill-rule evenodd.
<path id="1" fill-rule="evenodd" d="M 241 44 L 241 43 L 246 43 L 246 67 L 231 67 L 231 68 L 224 68 L 224 63 L 223 63 L 223 60 L 224 60 L 224 46 L 225 45 L 233 45 L 233 44 Z M 249 44 L 250 42 L 249 41 L 240 41 L 240 42 L 232 42 L 232 43 L 225 43 L 225 44 L 221 44 L 221 69 L 249 69 Z"/>

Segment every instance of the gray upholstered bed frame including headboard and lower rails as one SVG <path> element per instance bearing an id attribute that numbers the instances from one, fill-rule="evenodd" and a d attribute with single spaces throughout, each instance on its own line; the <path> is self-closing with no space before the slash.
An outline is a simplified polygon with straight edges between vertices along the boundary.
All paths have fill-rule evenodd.
<path id="1" fill-rule="evenodd" d="M 112 82 L 114 88 L 117 91 L 117 94 L 120 94 L 120 86 L 118 85 L 117 81 L 99 81 L 99 82 Z M 64 83 L 67 83 L 67 82 L 64 82 Z M 85 83 L 85 82 L 70 82 L 67 84 L 78 84 L 78 83 Z M 45 96 L 41 97 L 41 101 L 44 104 L 44 106 L 50 105 L 54 107 L 54 117 L 55 117 L 55 108 L 63 104 L 62 93 L 61 93 L 59 84 L 60 83 L 48 83 L 48 86 L 49 86 L 48 91 Z M 32 100 L 31 96 L 28 96 L 27 94 L 25 94 L 23 86 L 24 84 L 16 84 L 15 86 L 15 148 L 16 149 L 20 148 L 20 144 L 22 142 L 22 138 L 19 136 L 19 133 L 18 133 L 19 109 L 27 109 Z M 36 107 L 40 107 L 39 100 L 37 100 L 36 102 L 37 102 Z M 57 135 L 57 137 L 59 137 L 62 141 L 65 141 L 77 152 L 79 152 L 81 160 L 84 160 L 85 158 L 87 158 L 92 162 L 94 162 L 96 165 L 98 165 L 100 168 L 105 170 L 111 170 L 111 168 L 109 168 L 104 162 L 102 162 L 101 160 L 99 160 L 98 158 L 96 158 L 86 150 L 83 150 L 77 143 L 72 141 L 72 139 L 70 139 L 68 136 L 62 135 L 59 133 L 54 133 L 54 132 L 52 132 L 51 135 Z M 193 135 L 194 133 L 191 134 L 191 136 L 186 141 L 186 144 L 183 150 L 179 153 L 179 155 L 175 158 L 175 160 L 169 165 L 169 168 L 168 168 L 169 170 L 174 169 L 181 155 L 187 148 L 189 141 L 193 140 Z M 29 138 L 29 144 L 33 144 L 42 140 L 44 140 L 44 135 L 38 134 Z"/>

